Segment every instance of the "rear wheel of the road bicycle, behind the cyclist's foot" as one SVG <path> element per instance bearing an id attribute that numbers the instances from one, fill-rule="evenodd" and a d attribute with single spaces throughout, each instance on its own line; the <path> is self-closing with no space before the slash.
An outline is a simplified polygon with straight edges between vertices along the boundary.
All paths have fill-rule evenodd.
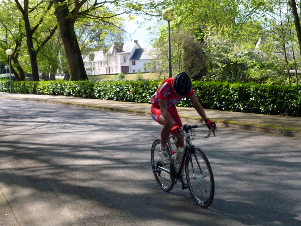
<path id="1" fill-rule="evenodd" d="M 170 175 L 170 166 L 159 162 L 160 143 L 160 139 L 157 139 L 151 147 L 151 166 L 160 188 L 163 191 L 170 191 L 173 187 L 173 180 Z"/>

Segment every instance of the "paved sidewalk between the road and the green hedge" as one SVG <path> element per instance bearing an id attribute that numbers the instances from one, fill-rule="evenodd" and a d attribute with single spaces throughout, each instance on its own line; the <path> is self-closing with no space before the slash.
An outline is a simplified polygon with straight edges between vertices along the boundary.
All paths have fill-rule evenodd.
<path id="1" fill-rule="evenodd" d="M 150 116 L 150 104 L 86 99 L 73 96 L 66 97 L 4 92 L 0 92 L 0 97 Z M 177 109 L 183 121 L 203 123 L 194 108 L 178 107 Z M 248 114 L 209 109 L 205 109 L 205 111 L 210 120 L 217 122 L 218 127 L 232 127 L 301 138 L 301 118 L 299 117 Z"/>

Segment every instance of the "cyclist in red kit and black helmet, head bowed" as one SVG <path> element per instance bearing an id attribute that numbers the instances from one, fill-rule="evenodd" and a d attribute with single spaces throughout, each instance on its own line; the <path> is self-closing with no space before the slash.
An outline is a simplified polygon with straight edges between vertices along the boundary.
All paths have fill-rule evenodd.
<path id="1" fill-rule="evenodd" d="M 197 97 L 191 88 L 191 79 L 188 74 L 183 71 L 173 78 L 165 79 L 160 84 L 157 92 L 151 97 L 151 116 L 155 121 L 162 125 L 159 154 L 160 161 L 167 165 L 171 164 L 166 152 L 166 143 L 169 134 L 172 133 L 172 135 L 178 137 L 179 128 L 183 127 L 176 105 L 184 98 L 184 96 L 187 96 L 190 99 L 197 113 L 205 120 L 208 128 L 216 130 L 216 123 L 207 118 L 202 105 L 197 100 Z M 177 149 L 179 147 L 184 148 L 184 138 L 181 136 L 178 140 L 179 142 L 176 143 Z M 181 169 L 181 182 L 183 189 L 188 187 L 184 167 Z"/>

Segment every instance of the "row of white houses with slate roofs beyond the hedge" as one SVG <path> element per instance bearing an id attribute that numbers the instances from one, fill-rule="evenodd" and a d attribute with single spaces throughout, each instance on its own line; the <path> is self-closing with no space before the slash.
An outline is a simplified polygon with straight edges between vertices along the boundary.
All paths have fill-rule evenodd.
<path id="1" fill-rule="evenodd" d="M 138 41 L 115 43 L 104 54 L 102 51 L 83 56 L 88 75 L 118 74 L 152 71 L 153 48 L 142 49 Z"/>

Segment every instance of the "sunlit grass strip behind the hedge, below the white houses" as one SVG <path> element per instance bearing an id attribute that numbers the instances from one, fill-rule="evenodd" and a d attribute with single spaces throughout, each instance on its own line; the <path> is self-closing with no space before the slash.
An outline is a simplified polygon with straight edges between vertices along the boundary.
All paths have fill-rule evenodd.
<path id="1" fill-rule="evenodd" d="M 168 73 L 163 73 L 161 78 L 168 77 Z M 119 75 L 95 75 L 95 76 L 88 76 L 89 80 L 92 81 L 108 81 L 108 80 L 121 80 Z M 125 74 L 123 80 L 159 80 L 160 75 L 158 73 L 135 73 L 135 74 Z"/>

